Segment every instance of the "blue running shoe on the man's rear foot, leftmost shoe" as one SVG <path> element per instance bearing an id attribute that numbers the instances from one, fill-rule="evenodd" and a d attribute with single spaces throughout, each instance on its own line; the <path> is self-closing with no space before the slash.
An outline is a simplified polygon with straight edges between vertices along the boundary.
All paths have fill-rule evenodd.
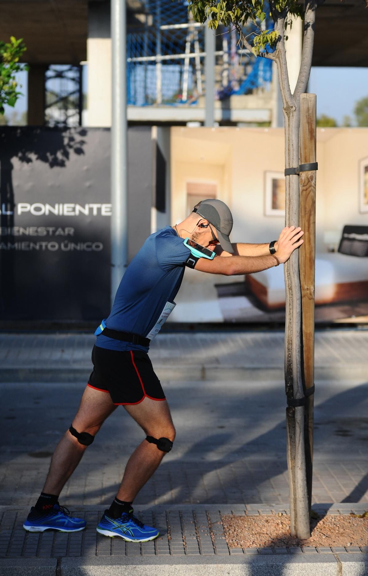
<path id="1" fill-rule="evenodd" d="M 79 532 L 86 527 L 87 522 L 81 518 L 70 516 L 65 506 L 55 506 L 49 512 L 40 512 L 32 506 L 23 528 L 28 532 L 44 532 L 59 530 L 59 532 Z"/>

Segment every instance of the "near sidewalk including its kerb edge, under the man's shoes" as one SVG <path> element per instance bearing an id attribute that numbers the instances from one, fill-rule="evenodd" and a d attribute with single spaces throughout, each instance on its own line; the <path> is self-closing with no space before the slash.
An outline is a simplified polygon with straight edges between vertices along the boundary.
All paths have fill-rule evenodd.
<path id="1" fill-rule="evenodd" d="M 362 505 L 313 506 L 323 514 L 362 513 Z M 142 544 L 127 543 L 120 538 L 107 538 L 96 532 L 96 525 L 103 514 L 103 507 L 79 506 L 71 510 L 74 516 L 84 518 L 88 524 L 83 532 L 66 534 L 61 532 L 29 533 L 22 528 L 26 509 L 2 507 L 0 510 L 0 574 L 33 573 L 35 567 L 40 574 L 47 566 L 48 576 L 68 574 L 121 574 L 121 566 L 134 566 L 135 574 L 151 574 L 156 569 L 162 573 L 191 574 L 197 567 L 209 565 L 208 572 L 223 574 L 219 567 L 226 567 L 232 574 L 285 574 L 285 568 L 293 567 L 294 574 L 340 574 L 340 566 L 350 564 L 357 570 L 368 569 L 367 547 L 321 548 L 228 548 L 223 532 L 222 517 L 226 514 L 267 515 L 289 513 L 285 506 L 140 506 L 137 516 L 146 524 L 157 526 L 161 535 L 157 540 Z M 267 560 L 264 561 L 265 556 Z M 280 560 L 281 558 L 281 560 Z M 32 562 L 33 559 L 33 562 Z M 54 559 L 54 565 L 52 564 Z M 191 571 L 185 568 L 188 562 Z M 211 564 L 215 559 L 216 564 Z M 232 562 L 233 560 L 233 562 Z M 48 565 L 46 564 L 48 562 Z M 183 564 L 183 562 L 185 562 Z M 158 563 L 158 564 L 157 564 Z M 187 564 L 188 567 L 188 564 Z M 351 566 L 350 566 L 351 567 Z M 115 570 L 116 572 L 115 572 Z M 211 570 L 212 568 L 212 570 Z M 147 570 L 149 569 L 149 570 Z M 107 572 L 107 570 L 109 570 Z M 229 571 L 230 570 L 230 571 Z M 328 571 L 326 571 L 328 570 Z M 14 571 L 14 572 L 13 572 Z M 354 574 L 365 574 L 356 571 Z M 345 574 L 345 572 L 344 572 Z M 348 572 L 348 574 L 352 574 Z"/>

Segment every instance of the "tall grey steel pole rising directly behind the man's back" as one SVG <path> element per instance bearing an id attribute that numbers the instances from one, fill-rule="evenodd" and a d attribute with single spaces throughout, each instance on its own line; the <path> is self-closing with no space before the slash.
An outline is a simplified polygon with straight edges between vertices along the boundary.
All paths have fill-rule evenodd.
<path id="1" fill-rule="evenodd" d="M 126 0 L 111 0 L 111 305 L 128 259 Z"/>

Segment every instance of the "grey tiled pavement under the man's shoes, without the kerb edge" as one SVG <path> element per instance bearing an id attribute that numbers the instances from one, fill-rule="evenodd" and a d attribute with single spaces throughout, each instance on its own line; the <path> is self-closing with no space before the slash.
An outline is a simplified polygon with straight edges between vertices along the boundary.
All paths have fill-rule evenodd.
<path id="1" fill-rule="evenodd" d="M 349 505 L 314 507 L 327 514 L 350 514 Z M 354 506 L 356 513 L 364 508 Z M 157 526 L 161 536 L 142 544 L 128 543 L 120 538 L 108 538 L 96 532 L 103 514 L 101 507 L 75 507 L 74 516 L 84 518 L 88 524 L 82 532 L 30 533 L 22 528 L 26 509 L 3 507 L 0 523 L 0 558 L 70 558 L 80 556 L 200 556 L 243 554 L 341 554 L 368 552 L 368 547 L 293 547 L 293 548 L 229 548 L 227 547 L 221 517 L 226 514 L 278 514 L 289 513 L 284 506 L 146 506 L 136 507 L 137 516 L 146 524 Z"/>

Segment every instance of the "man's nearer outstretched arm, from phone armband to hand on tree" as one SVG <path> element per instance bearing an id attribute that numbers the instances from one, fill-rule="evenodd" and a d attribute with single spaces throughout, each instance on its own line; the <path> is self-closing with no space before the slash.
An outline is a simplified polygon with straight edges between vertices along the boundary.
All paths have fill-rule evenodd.
<path id="1" fill-rule="evenodd" d="M 280 234 L 278 241 L 278 249 L 275 253 L 276 258 L 280 264 L 289 260 L 290 255 L 294 252 L 295 248 L 302 245 L 303 231 L 295 226 L 287 226 Z M 268 245 L 267 245 L 268 246 Z M 211 274 L 223 274 L 225 276 L 235 276 L 241 274 L 252 274 L 252 272 L 260 272 L 267 270 L 273 266 L 278 266 L 277 260 L 268 255 L 263 256 L 240 256 L 232 255 L 231 258 L 215 257 L 213 260 L 200 258 L 195 265 L 195 270 L 202 272 L 210 272 Z"/>

